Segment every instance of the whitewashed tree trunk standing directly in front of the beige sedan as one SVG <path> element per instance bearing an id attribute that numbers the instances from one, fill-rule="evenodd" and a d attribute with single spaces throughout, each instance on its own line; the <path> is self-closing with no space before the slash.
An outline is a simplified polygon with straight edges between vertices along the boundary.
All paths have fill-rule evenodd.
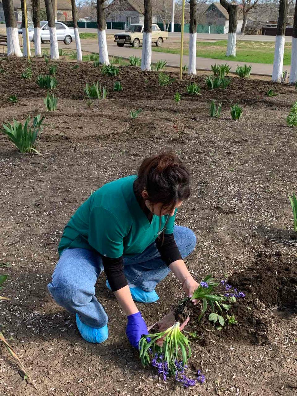
<path id="1" fill-rule="evenodd" d="M 143 43 L 141 53 L 141 70 L 150 70 L 152 63 L 152 1 L 144 0 L 145 24 L 143 27 Z"/>

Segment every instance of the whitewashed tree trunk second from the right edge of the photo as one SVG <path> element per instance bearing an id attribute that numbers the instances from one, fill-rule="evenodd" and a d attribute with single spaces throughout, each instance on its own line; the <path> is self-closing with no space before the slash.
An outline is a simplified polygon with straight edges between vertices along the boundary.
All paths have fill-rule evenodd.
<path id="1" fill-rule="evenodd" d="M 276 28 L 272 81 L 281 82 L 283 79 L 283 64 L 285 51 L 285 32 L 287 24 L 288 0 L 280 0 L 278 26 Z"/>

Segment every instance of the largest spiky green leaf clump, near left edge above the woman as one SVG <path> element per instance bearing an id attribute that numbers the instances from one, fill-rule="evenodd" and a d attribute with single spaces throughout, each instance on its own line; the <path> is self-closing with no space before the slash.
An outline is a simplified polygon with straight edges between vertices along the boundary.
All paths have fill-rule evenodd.
<path id="1" fill-rule="evenodd" d="M 40 114 L 33 119 L 33 126 L 29 127 L 30 117 L 25 121 L 24 126 L 21 122 L 13 120 L 13 124 L 3 124 L 2 132 L 5 133 L 8 138 L 15 144 L 19 149 L 19 152 L 26 154 L 27 152 L 40 154 L 36 150 L 36 146 L 42 132 L 42 122 L 44 117 L 40 117 Z"/>

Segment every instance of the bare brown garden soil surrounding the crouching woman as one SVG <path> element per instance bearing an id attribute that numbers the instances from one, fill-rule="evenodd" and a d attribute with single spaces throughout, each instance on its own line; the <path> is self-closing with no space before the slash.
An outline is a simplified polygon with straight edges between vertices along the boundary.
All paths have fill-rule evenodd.
<path id="1" fill-rule="evenodd" d="M 293 221 L 287 194 L 296 190 L 297 133 L 286 115 L 297 93 L 290 86 L 231 78 L 226 90 L 209 91 L 203 76 L 177 78 L 168 87 L 158 75 L 123 67 L 102 76 L 91 64 L 59 62 L 58 109 L 46 112 L 46 90 L 36 76 L 48 67 L 31 63 L 33 77 L 21 78 L 25 59 L 0 61 L 0 122 L 45 115 L 38 149 L 42 156 L 17 154 L 0 135 L 0 273 L 8 273 L 0 326 L 27 367 L 37 390 L 2 346 L 0 396 L 30 395 L 294 395 L 297 390 L 297 248 L 289 239 Z M 83 88 L 99 80 L 106 100 L 88 107 Z M 120 80 L 123 91 L 112 91 Z M 190 81 L 201 96 L 187 95 Z M 267 97 L 269 88 L 278 96 Z M 179 91 L 182 100 L 173 101 Z M 9 103 L 15 93 L 19 102 Z M 221 118 L 208 115 L 211 99 L 223 103 Z M 230 105 L 239 103 L 242 119 L 233 121 Z M 142 108 L 135 120 L 130 110 Z M 173 121 L 185 125 L 176 141 Z M 143 369 L 125 335 L 126 318 L 105 275 L 96 293 L 109 316 L 109 339 L 86 343 L 75 318 L 52 300 L 46 288 L 58 260 L 63 228 L 76 208 L 103 183 L 133 174 L 141 160 L 174 150 L 192 176 L 192 194 L 179 210 L 177 223 L 197 236 L 187 258 L 201 280 L 213 273 L 245 291 L 232 308 L 238 324 L 216 331 L 207 320 L 192 320 L 185 331 L 197 336 L 191 347 L 192 368 L 206 383 L 184 389 L 163 383 Z M 291 239 L 293 240 L 293 239 Z M 138 304 L 147 324 L 167 314 L 184 297 L 170 274 L 156 291 L 156 304 Z"/>

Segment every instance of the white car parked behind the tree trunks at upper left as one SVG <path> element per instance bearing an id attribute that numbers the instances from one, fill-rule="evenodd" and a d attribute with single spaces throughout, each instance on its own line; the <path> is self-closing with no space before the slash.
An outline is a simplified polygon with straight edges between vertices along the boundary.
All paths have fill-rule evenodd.
<path id="1" fill-rule="evenodd" d="M 55 27 L 56 27 L 58 41 L 64 41 L 65 44 L 70 44 L 73 40 L 75 40 L 73 28 L 66 26 L 62 22 L 55 22 Z M 30 24 L 28 26 L 28 30 L 29 30 L 29 40 L 34 42 L 34 26 L 33 26 L 33 24 Z M 22 32 L 22 30 L 20 29 L 19 33 L 21 33 L 21 32 Z M 44 41 L 50 41 L 49 40 L 49 26 L 48 26 L 47 21 L 40 22 L 40 36 L 41 36 L 42 43 Z"/>

